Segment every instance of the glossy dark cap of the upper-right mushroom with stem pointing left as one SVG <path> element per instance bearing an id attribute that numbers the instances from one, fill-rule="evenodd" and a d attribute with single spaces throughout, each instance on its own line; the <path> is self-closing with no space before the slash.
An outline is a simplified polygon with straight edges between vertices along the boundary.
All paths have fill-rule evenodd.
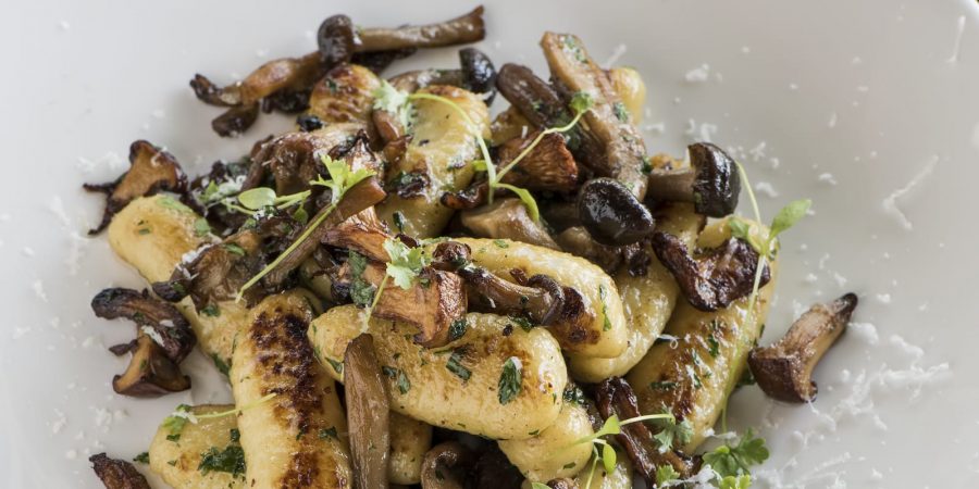
<path id="1" fill-rule="evenodd" d="M 697 213 L 710 217 L 733 213 L 741 193 L 741 175 L 734 160 L 709 142 L 697 142 L 686 149 L 696 172 L 693 191 Z"/>

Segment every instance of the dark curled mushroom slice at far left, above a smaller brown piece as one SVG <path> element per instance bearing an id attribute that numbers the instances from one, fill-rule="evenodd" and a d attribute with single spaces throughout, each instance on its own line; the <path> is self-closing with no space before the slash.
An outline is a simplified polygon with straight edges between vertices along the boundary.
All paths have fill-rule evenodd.
<path id="1" fill-rule="evenodd" d="M 174 363 L 182 362 L 194 349 L 197 338 L 187 318 L 173 305 L 154 299 L 144 290 L 110 288 L 91 300 L 96 316 L 104 319 L 126 317 L 152 331 L 154 340 Z M 149 334 L 149 333 L 148 333 Z"/>

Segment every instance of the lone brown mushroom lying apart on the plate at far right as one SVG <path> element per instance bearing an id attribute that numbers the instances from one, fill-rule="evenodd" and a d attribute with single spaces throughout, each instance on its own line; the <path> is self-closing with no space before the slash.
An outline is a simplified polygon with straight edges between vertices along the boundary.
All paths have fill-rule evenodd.
<path id="1" fill-rule="evenodd" d="M 780 401 L 813 402 L 817 392 L 813 369 L 846 329 L 856 305 L 854 293 L 828 304 L 815 304 L 795 319 L 782 339 L 753 349 L 748 365 L 758 387 Z"/>

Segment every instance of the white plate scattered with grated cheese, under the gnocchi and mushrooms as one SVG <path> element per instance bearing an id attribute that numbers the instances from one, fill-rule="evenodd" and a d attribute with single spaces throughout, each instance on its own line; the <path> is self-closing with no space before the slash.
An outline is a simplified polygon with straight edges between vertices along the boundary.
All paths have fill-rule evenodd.
<path id="1" fill-rule="evenodd" d="M 4 170 L 0 255 L 0 478 L 10 488 L 97 488 L 87 456 L 131 457 L 189 394 L 114 396 L 126 361 L 104 347 L 126 324 L 96 319 L 101 288 L 141 287 L 87 239 L 128 143 L 168 147 L 191 173 L 287 127 L 262 116 L 218 138 L 196 72 L 225 82 L 314 48 L 326 15 L 364 25 L 435 21 L 457 1 L 11 2 L 0 18 Z M 544 29 L 573 32 L 598 60 L 636 66 L 649 87 L 650 151 L 709 137 L 732 148 L 763 212 L 801 197 L 815 215 L 784 236 L 779 301 L 765 341 L 803 304 L 856 291 L 856 322 L 820 364 L 811 406 L 733 400 L 772 456 L 758 487 L 979 487 L 975 192 L 979 183 L 979 9 L 971 0 L 494 2 L 481 45 L 501 64 L 543 68 Z M 623 47 L 623 48 L 620 48 Z M 454 64 L 454 52 L 411 63 Z M 397 67 L 396 67 L 397 70 Z M 902 215 L 904 217 L 902 217 Z M 871 326 L 873 325 L 873 326 Z M 206 366 L 202 358 L 191 363 Z"/>

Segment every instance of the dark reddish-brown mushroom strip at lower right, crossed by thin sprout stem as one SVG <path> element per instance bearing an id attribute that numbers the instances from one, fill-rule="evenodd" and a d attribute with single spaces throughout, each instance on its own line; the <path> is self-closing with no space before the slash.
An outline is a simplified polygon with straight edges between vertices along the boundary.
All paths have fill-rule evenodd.
<path id="1" fill-rule="evenodd" d="M 611 377 L 598 384 L 595 388 L 595 397 L 598 411 L 606 419 L 612 415 L 619 416 L 619 419 L 642 415 L 635 392 L 622 378 Z M 644 423 L 630 423 L 622 426 L 621 434 L 616 435 L 616 441 L 625 449 L 636 472 L 649 487 L 656 487 L 656 468 L 662 465 L 672 466 L 680 478 L 693 475 L 694 466 L 691 461 L 673 450 L 660 451 L 654 444 L 653 431 Z"/>

